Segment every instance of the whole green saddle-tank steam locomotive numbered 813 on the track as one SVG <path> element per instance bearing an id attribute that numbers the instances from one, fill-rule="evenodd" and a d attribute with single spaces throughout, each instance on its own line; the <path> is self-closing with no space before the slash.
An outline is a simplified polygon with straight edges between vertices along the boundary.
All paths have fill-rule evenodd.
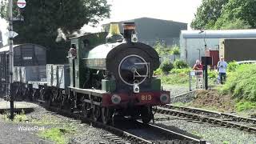
<path id="1" fill-rule="evenodd" d="M 106 123 L 118 114 L 147 123 L 153 118 L 152 107 L 168 103 L 170 92 L 153 77 L 158 53 L 138 42 L 134 22 L 124 23 L 123 28 L 123 36 L 118 23 L 111 23 L 107 36 L 71 39 L 70 98 L 76 99 L 74 107 L 81 106 L 82 114 L 94 120 Z"/>

